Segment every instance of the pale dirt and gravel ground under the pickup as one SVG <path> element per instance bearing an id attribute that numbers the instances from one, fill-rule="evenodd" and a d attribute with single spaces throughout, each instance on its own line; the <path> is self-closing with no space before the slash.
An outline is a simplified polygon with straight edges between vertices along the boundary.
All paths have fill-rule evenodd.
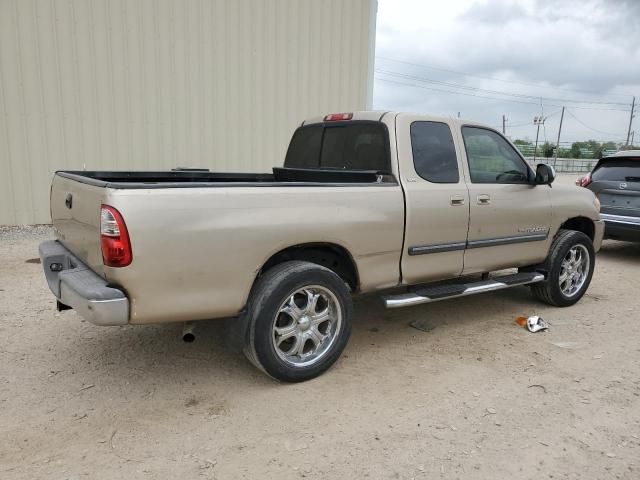
<path id="1" fill-rule="evenodd" d="M 206 322 L 96 327 L 0 229 L 0 478 L 640 477 L 640 245 L 607 242 L 569 309 L 526 288 L 386 311 L 336 366 L 277 384 Z M 547 333 L 514 323 L 540 314 Z M 428 320 L 433 330 L 408 326 Z"/>

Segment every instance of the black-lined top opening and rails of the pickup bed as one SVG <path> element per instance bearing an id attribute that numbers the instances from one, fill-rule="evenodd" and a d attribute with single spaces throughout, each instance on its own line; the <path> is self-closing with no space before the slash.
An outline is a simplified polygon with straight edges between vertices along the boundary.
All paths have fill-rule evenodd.
<path id="1" fill-rule="evenodd" d="M 137 172 L 62 170 L 56 174 L 88 185 L 117 189 L 395 183 L 392 175 L 375 170 L 285 167 L 273 168 L 272 173 L 219 173 L 208 170 Z"/>

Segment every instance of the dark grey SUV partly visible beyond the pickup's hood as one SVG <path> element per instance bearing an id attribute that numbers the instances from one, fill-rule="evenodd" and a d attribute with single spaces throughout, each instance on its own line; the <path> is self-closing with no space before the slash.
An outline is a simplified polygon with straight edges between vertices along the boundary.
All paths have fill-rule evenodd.
<path id="1" fill-rule="evenodd" d="M 640 150 L 602 158 L 576 183 L 600 200 L 605 238 L 640 242 Z"/>

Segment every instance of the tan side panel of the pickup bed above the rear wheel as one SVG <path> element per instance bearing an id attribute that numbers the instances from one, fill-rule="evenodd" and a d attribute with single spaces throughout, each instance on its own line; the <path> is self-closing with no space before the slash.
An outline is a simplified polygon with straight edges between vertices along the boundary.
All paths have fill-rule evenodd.
<path id="1" fill-rule="evenodd" d="M 130 323 L 233 316 L 264 263 L 289 246 L 347 249 L 363 292 L 399 281 L 399 185 L 114 190 L 133 262 L 104 267 L 131 300 Z"/>

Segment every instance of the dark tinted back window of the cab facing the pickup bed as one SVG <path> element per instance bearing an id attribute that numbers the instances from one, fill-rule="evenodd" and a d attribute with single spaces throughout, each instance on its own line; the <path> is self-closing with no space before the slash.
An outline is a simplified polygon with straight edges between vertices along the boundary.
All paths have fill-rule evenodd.
<path id="1" fill-rule="evenodd" d="M 293 134 L 284 166 L 391 173 L 389 135 L 380 122 L 305 125 Z"/>

